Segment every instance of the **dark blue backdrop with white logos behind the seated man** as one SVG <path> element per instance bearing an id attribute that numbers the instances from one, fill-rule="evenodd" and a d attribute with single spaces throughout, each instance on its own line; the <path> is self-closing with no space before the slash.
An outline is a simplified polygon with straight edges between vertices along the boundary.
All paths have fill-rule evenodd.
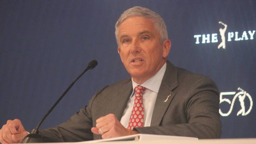
<path id="1" fill-rule="evenodd" d="M 174 65 L 216 82 L 222 138 L 256 138 L 254 0 L 0 0 L 0 125 L 19 118 L 34 128 L 92 59 L 98 66 L 41 128 L 66 121 L 96 90 L 130 77 L 117 53 L 114 24 L 133 6 L 164 18 Z"/>

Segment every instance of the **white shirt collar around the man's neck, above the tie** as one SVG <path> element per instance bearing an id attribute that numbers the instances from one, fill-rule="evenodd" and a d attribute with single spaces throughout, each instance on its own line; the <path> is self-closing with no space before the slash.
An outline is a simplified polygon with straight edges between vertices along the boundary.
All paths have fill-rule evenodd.
<path id="1" fill-rule="evenodd" d="M 137 85 L 141 85 L 149 90 L 152 90 L 152 91 L 158 93 L 165 70 L 166 70 L 166 63 L 160 68 L 160 70 L 153 77 L 146 80 L 143 84 L 138 84 L 138 83 L 134 82 L 134 80 L 132 78 L 132 83 L 133 83 L 132 95 L 134 93 L 134 88 Z"/>

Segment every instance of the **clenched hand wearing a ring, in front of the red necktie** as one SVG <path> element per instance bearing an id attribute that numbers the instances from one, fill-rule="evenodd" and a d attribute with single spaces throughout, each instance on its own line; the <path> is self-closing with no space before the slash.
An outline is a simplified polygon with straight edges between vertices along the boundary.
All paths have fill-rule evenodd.
<path id="1" fill-rule="evenodd" d="M 101 131 L 99 130 L 100 128 Z M 98 118 L 96 120 L 96 127 L 92 127 L 91 131 L 94 134 L 102 135 L 103 139 L 139 134 L 137 131 L 123 127 L 114 114 Z"/>

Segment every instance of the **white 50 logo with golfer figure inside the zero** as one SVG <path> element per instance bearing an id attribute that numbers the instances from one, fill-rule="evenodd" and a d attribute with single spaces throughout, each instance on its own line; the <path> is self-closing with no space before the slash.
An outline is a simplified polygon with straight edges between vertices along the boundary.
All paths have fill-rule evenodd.
<path id="1" fill-rule="evenodd" d="M 234 107 L 234 103 L 235 103 L 237 97 L 238 97 L 238 100 L 239 100 L 240 105 L 241 105 L 241 109 L 237 112 L 237 116 L 238 116 L 239 114 L 241 114 L 242 116 L 245 116 L 245 115 L 247 115 L 247 114 L 250 113 L 250 111 L 251 111 L 251 109 L 252 109 L 252 104 L 253 104 L 250 94 L 247 93 L 246 91 L 244 91 L 244 90 L 241 89 L 241 88 L 238 88 L 237 90 L 240 90 L 240 91 L 237 92 L 237 93 L 236 93 L 235 91 L 233 91 L 233 92 L 221 92 L 221 93 L 220 93 L 220 104 L 221 104 L 222 102 L 227 102 L 228 104 L 230 104 L 230 109 L 229 109 L 229 111 L 228 111 L 227 113 L 223 113 L 223 112 L 221 111 L 221 109 L 219 109 L 219 113 L 221 114 L 221 116 L 228 116 L 228 115 L 232 112 L 233 107 Z M 232 96 L 235 95 L 234 98 L 233 98 L 233 100 L 232 100 L 232 102 L 231 102 L 229 99 L 223 98 L 224 96 L 227 96 L 227 95 L 232 95 Z M 250 100 L 250 107 L 249 107 L 249 109 L 245 112 L 244 99 L 245 99 L 246 97 L 248 97 L 248 99 Z"/>

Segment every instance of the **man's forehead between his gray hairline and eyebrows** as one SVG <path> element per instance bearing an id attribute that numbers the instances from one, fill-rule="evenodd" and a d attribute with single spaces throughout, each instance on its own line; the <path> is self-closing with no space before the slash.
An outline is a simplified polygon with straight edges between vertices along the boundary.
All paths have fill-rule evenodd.
<path id="1" fill-rule="evenodd" d="M 126 18 L 118 28 L 118 37 L 121 37 L 123 34 L 135 34 L 142 31 L 148 31 L 153 34 L 157 34 L 156 26 L 154 21 L 150 18 L 144 17 L 130 17 Z"/>

